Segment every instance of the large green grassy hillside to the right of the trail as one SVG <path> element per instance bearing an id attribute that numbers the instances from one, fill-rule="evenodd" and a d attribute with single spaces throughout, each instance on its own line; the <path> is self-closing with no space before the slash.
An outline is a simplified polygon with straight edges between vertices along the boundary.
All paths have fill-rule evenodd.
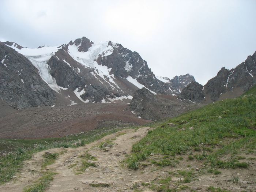
<path id="1" fill-rule="evenodd" d="M 236 154 L 242 149 L 255 153 L 256 88 L 245 95 L 161 122 L 132 146 L 133 153 L 126 159 L 128 167 L 139 169 L 140 162 L 149 158 L 151 153 L 175 156 L 192 154 L 192 151 L 198 151 L 195 155 L 197 161 L 206 161 L 212 167 L 248 167 L 247 163 L 236 159 L 221 162 L 221 157 Z M 189 127 L 194 129 L 189 130 Z M 193 160 L 192 155 L 188 159 Z"/>

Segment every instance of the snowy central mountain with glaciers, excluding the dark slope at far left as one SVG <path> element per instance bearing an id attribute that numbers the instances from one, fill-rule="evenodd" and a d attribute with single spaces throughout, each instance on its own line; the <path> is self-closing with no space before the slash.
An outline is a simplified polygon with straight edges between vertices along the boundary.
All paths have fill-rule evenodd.
<path id="1" fill-rule="evenodd" d="M 94 43 L 83 37 L 61 46 L 36 49 L 13 42 L 4 44 L 25 56 L 63 103 L 123 101 L 132 99 L 133 92 L 142 87 L 153 94 L 179 94 L 170 83 L 155 78 L 139 53 L 111 41 Z M 50 103 L 54 102 L 51 99 Z"/>

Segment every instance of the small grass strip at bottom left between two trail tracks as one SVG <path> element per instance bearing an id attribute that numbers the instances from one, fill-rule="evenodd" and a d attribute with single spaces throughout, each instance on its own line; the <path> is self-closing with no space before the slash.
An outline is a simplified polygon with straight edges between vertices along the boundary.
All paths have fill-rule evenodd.
<path id="1" fill-rule="evenodd" d="M 53 176 L 56 173 L 44 172 L 44 175 L 38 179 L 34 184 L 23 189 L 23 192 L 44 192 L 53 180 Z"/>

